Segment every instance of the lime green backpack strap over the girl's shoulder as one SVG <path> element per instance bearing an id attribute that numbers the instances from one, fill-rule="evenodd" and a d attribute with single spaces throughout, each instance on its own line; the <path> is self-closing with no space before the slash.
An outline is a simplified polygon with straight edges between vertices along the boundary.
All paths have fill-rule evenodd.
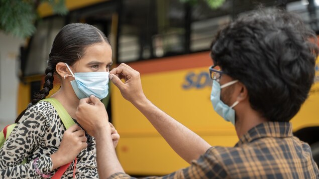
<path id="1" fill-rule="evenodd" d="M 62 104 L 55 98 L 46 98 L 42 99 L 41 101 L 47 101 L 52 104 L 52 106 L 55 108 L 55 110 L 58 112 L 64 126 L 66 129 L 71 127 L 75 124 L 72 117 L 69 115 L 69 113 L 64 109 Z"/>

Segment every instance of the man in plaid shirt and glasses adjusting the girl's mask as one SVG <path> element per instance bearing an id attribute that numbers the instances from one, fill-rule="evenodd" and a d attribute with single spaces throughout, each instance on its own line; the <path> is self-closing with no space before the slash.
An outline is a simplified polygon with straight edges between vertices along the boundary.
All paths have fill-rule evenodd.
<path id="1" fill-rule="evenodd" d="M 163 178 L 319 178 L 309 145 L 292 135 L 289 123 L 313 83 L 313 40 L 315 34 L 299 18 L 279 10 L 251 13 L 218 33 L 211 45 L 211 102 L 235 125 L 239 141 L 234 147 L 210 146 L 158 109 L 145 97 L 140 75 L 130 66 L 113 69 L 110 79 L 190 163 Z M 129 178 L 117 159 L 99 100 L 80 101 L 76 115 L 95 136 L 100 178 Z"/>

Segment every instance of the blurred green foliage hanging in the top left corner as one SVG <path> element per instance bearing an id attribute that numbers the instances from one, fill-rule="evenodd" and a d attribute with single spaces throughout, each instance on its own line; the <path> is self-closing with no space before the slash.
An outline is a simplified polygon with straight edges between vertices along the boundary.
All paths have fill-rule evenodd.
<path id="1" fill-rule="evenodd" d="M 34 23 L 39 18 L 37 8 L 44 2 L 49 3 L 54 13 L 68 12 L 65 0 L 0 0 L 0 30 L 19 38 L 32 36 L 36 31 Z"/>

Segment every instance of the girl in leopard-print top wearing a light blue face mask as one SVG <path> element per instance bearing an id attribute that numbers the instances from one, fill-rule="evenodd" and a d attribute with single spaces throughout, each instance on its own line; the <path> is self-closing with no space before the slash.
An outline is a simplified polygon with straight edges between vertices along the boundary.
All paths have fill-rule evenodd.
<path id="1" fill-rule="evenodd" d="M 62 178 L 98 178 L 94 138 L 76 125 L 66 130 L 51 103 L 40 100 L 53 88 L 55 74 L 61 87 L 51 97 L 76 119 L 79 99 L 108 95 L 111 65 L 111 46 L 101 31 L 87 24 L 69 24 L 60 30 L 51 48 L 43 89 L 18 116 L 17 126 L 0 149 L 1 178 L 49 178 L 75 156 L 76 162 Z M 113 137 L 116 146 L 115 129 Z M 25 158 L 27 162 L 20 164 Z"/>

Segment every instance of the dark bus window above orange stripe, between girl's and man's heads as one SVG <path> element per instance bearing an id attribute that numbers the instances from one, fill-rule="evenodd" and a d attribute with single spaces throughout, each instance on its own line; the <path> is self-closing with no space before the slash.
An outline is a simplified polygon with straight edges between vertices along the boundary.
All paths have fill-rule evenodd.
<path id="1" fill-rule="evenodd" d="M 179 0 L 123 1 L 119 62 L 185 53 L 184 17 Z"/>

